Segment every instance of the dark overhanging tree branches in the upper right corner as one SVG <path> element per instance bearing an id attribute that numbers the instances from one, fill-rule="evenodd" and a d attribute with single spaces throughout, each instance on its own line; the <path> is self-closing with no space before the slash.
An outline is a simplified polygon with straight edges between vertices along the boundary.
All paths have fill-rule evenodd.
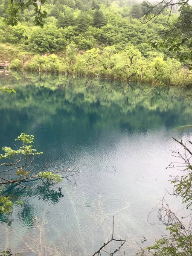
<path id="1" fill-rule="evenodd" d="M 157 4 L 151 4 L 143 1 L 144 22 L 154 22 L 163 12 L 169 12 L 164 28 L 159 32 L 159 37 L 151 41 L 154 48 L 166 47 L 169 51 L 177 52 L 181 61 L 192 61 L 192 6 L 188 4 L 189 0 L 166 0 Z M 179 16 L 171 22 L 171 15 L 174 7 L 178 7 Z M 147 21 L 145 21 L 147 20 Z M 187 50 L 182 52 L 181 48 Z M 192 69 L 192 67 L 190 67 Z"/>

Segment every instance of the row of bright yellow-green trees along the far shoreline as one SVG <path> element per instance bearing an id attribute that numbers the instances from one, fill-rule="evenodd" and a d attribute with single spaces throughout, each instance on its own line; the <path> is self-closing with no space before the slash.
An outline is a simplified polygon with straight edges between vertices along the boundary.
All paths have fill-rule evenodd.
<path id="1" fill-rule="evenodd" d="M 145 58 L 133 44 L 126 44 L 123 50 L 119 50 L 118 45 L 107 46 L 101 50 L 89 49 L 89 44 L 95 44 L 94 39 L 79 40 L 79 48 L 88 48 L 85 52 L 78 52 L 76 44 L 70 43 L 58 55 L 34 55 L 26 63 L 25 69 L 57 74 L 66 72 L 74 75 L 99 75 L 109 79 L 164 85 L 184 85 L 192 82 L 192 72 L 182 68 L 181 63 L 174 58 L 168 57 L 165 60 L 162 55 L 151 51 L 148 52 L 148 58 Z M 12 63 L 14 67 L 14 61 Z"/>

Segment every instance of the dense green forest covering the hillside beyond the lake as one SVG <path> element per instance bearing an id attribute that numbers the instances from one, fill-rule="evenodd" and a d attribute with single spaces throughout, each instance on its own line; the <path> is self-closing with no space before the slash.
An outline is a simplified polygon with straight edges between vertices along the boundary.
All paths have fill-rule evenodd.
<path id="1" fill-rule="evenodd" d="M 42 6 L 47 19 L 34 26 L 32 6 L 19 14 L 17 26 L 3 22 L 8 1 L 0 3 L 0 62 L 15 70 L 67 73 L 72 76 L 154 84 L 191 84 L 186 51 L 151 48 L 167 23 L 166 10 L 153 23 L 142 24 L 142 5 L 132 1 L 48 0 Z M 172 13 L 170 19 L 177 19 Z"/>

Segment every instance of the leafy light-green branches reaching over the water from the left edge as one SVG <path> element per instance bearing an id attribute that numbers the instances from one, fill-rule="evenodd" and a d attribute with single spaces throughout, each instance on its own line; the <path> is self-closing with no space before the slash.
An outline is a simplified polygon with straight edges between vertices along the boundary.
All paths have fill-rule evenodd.
<path id="1" fill-rule="evenodd" d="M 30 166 L 34 162 L 35 157 L 43 154 L 43 152 L 38 152 L 36 148 L 32 145 L 34 143 L 33 135 L 26 135 L 21 133 L 16 141 L 20 141 L 22 144 L 19 148 L 12 149 L 10 147 L 3 147 L 2 150 L 5 154 L 0 154 L 0 159 L 4 160 L 4 163 L 0 164 L 0 169 L 3 168 L 3 175 L 0 176 L 0 185 L 13 183 L 23 188 L 21 184 L 24 180 L 32 180 L 36 178 L 45 178 L 49 181 L 59 182 L 62 180 L 60 175 L 55 175 L 52 172 L 38 172 L 35 175 L 30 175 Z M 7 172 L 15 172 L 16 178 L 8 179 L 5 174 Z M 2 189 L 0 189 L 0 215 L 10 214 L 13 210 L 13 202 L 11 197 L 4 196 Z"/>

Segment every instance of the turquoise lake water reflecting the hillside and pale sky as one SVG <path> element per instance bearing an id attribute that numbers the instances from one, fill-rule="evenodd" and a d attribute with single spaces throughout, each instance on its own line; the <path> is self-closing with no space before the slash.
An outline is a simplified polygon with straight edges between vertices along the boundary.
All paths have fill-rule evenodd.
<path id="1" fill-rule="evenodd" d="M 177 171 L 166 167 L 180 150 L 172 136 L 192 136 L 192 128 L 180 127 L 192 125 L 192 102 L 180 88 L 35 74 L 23 80 L 19 73 L 1 75 L 0 86 L 16 90 L 0 93 L 0 147 L 13 147 L 21 132 L 33 134 L 44 155 L 32 172 L 78 172 L 55 186 L 35 180 L 27 189 L 6 188 L 24 203 L 9 225 L 0 223 L 1 250 L 92 255 L 111 237 L 113 215 L 114 236 L 127 240 L 116 255 L 133 255 L 142 235 L 146 246 L 160 237 L 157 214 L 149 222 L 147 216 L 172 189 L 169 175 Z"/>

